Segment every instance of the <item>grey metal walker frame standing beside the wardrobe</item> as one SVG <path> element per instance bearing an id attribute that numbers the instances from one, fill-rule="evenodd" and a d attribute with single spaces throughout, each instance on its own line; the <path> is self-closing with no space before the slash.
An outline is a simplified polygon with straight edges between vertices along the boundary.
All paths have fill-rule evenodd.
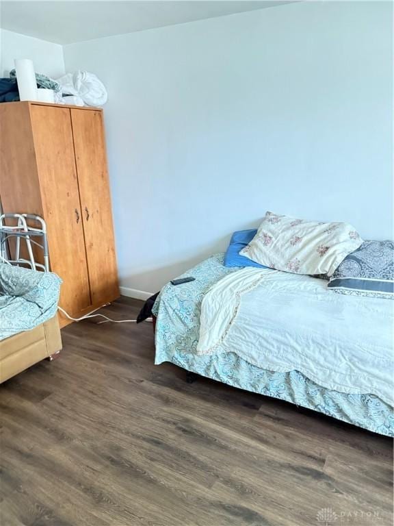
<path id="1" fill-rule="evenodd" d="M 8 223 L 10 223 L 10 220 L 16 220 L 16 225 L 6 225 L 6 220 L 8 220 Z M 38 223 L 40 227 L 32 227 L 29 224 L 32 221 Z M 15 221 L 12 222 L 15 223 Z M 14 258 L 10 256 L 10 247 L 8 246 L 10 238 L 16 238 Z M 23 241 L 25 242 L 29 259 L 21 258 L 21 242 Z M 43 264 L 36 262 L 32 245 L 42 249 Z M 44 272 L 49 272 L 47 224 L 44 219 L 35 214 L 2 214 L 0 216 L 0 258 L 2 261 L 12 265 L 28 265 L 34 271 L 40 269 Z"/>

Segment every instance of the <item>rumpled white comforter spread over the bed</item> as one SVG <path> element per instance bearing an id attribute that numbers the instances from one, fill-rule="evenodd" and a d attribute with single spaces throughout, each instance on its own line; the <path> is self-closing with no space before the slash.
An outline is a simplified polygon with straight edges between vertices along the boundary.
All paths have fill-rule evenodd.
<path id="1" fill-rule="evenodd" d="M 205 295 L 197 353 L 233 351 L 260 368 L 297 370 L 328 389 L 394 405 L 393 307 L 336 294 L 324 279 L 244 268 Z"/>

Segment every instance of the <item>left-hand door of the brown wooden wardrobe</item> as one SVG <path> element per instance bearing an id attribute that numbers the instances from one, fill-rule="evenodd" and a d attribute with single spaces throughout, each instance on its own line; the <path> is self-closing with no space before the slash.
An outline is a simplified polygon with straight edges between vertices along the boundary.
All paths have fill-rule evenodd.
<path id="1" fill-rule="evenodd" d="M 63 280 L 60 306 L 75 317 L 91 298 L 70 110 L 31 105 L 30 111 L 51 270 Z"/>

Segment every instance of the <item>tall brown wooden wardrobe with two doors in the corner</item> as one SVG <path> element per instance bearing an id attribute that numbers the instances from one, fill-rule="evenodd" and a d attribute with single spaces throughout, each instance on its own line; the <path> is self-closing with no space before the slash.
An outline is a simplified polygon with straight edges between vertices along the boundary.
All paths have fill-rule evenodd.
<path id="1" fill-rule="evenodd" d="M 47 222 L 60 306 L 79 318 L 119 296 L 103 112 L 40 102 L 0 104 L 3 212 Z M 60 314 L 60 325 L 70 323 Z"/>

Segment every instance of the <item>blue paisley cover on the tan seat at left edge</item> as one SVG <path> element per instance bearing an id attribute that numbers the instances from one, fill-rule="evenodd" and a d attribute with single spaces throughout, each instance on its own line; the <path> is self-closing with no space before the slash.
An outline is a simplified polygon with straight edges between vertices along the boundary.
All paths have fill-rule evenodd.
<path id="1" fill-rule="evenodd" d="M 61 283 L 50 272 L 0 263 L 0 340 L 55 316 Z"/>

